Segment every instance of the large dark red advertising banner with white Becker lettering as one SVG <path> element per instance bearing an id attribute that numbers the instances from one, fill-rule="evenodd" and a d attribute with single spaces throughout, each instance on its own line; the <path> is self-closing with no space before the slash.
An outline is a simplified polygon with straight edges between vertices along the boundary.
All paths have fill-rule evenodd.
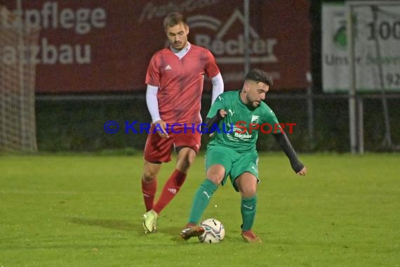
<path id="1" fill-rule="evenodd" d="M 36 64 L 36 92 L 81 93 L 143 90 L 153 53 L 168 46 L 163 26 L 171 11 L 188 20 L 189 41 L 214 54 L 226 90 L 240 89 L 244 77 L 242 0 L 0 0 L 25 30 L 40 27 L 35 46 L 4 46 L 1 64 L 18 55 Z M 18 17 L 20 16 L 20 17 Z M 308 86 L 311 25 L 309 1 L 250 1 L 251 67 L 274 77 L 273 89 Z M 19 27 L 1 19 L 0 27 Z M 4 38 L 4 37 L 0 37 Z M 209 89 L 210 86 L 206 86 Z"/>

